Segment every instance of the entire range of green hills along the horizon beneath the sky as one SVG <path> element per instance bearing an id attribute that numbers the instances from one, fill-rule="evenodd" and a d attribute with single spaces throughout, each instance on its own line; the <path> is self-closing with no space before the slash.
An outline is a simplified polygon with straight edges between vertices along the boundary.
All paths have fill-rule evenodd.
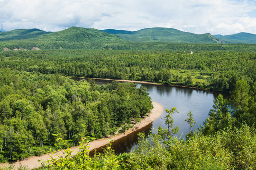
<path id="1" fill-rule="evenodd" d="M 154 27 L 137 31 L 70 27 L 57 32 L 46 32 L 37 28 L 16 29 L 0 32 L 0 42 L 171 42 L 171 43 L 256 43 L 256 34 L 231 35 L 194 34 L 175 28 Z"/>

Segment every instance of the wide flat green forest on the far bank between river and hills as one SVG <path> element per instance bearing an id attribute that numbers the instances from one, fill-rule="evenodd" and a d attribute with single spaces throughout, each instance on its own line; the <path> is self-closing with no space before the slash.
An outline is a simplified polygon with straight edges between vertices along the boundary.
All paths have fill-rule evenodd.
<path id="1" fill-rule="evenodd" d="M 232 91 L 256 80 L 256 52 L 236 51 L 5 51 L 0 68 L 63 76 L 144 80 Z"/>

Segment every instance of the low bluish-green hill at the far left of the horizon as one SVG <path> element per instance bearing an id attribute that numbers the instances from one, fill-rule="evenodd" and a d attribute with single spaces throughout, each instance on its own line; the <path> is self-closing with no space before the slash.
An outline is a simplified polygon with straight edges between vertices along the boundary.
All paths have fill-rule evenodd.
<path id="1" fill-rule="evenodd" d="M 0 41 L 9 40 L 24 40 L 35 38 L 43 34 L 50 34 L 51 32 L 42 31 L 39 29 L 17 29 L 12 31 L 0 32 Z"/>

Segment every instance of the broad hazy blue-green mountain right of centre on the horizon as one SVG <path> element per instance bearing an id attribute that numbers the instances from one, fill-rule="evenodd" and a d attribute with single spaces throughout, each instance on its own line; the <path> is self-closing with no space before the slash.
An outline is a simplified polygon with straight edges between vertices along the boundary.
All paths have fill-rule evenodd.
<path id="1" fill-rule="evenodd" d="M 145 28 L 138 31 L 107 29 L 107 33 L 117 34 L 121 38 L 134 42 L 186 42 L 186 43 L 225 43 L 210 33 L 193 34 L 174 28 Z"/>

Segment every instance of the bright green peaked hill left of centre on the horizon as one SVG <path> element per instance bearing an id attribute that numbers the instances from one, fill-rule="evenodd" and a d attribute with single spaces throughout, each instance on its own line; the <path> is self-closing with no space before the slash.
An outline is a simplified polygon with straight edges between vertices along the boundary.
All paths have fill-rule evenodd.
<path id="1" fill-rule="evenodd" d="M 68 29 L 41 35 L 34 40 L 61 41 L 61 42 L 88 42 L 88 41 L 124 41 L 119 36 L 102 32 L 93 28 L 70 27 Z"/>

